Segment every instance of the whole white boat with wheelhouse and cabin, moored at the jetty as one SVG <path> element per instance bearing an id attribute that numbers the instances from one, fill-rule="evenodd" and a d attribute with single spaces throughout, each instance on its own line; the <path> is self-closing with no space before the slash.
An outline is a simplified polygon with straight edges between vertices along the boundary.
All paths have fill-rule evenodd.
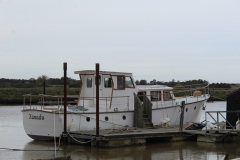
<path id="1" fill-rule="evenodd" d="M 83 70 L 76 71 L 75 74 L 80 76 L 81 87 L 79 95 L 76 97 L 77 105 L 68 105 L 67 107 L 67 130 L 95 130 L 96 72 Z M 50 108 L 44 105 L 26 105 L 24 102 L 22 115 L 26 134 L 36 140 L 51 140 L 54 137 L 60 137 L 64 129 L 62 97 L 38 96 L 42 101 L 45 97 L 55 97 L 58 99 L 59 105 Z M 24 95 L 24 100 L 27 97 L 30 97 L 31 102 L 33 95 Z M 150 104 L 151 113 L 148 113 L 147 117 L 141 118 L 142 115 L 138 115 L 136 109 L 144 108 L 143 97 Z M 147 128 L 149 124 L 143 120 L 146 118 L 149 119 L 150 127 L 179 125 L 182 101 L 185 101 L 184 124 L 199 122 L 209 97 L 207 91 L 205 93 L 198 91 L 194 96 L 175 97 L 172 87 L 136 85 L 132 73 L 100 71 L 99 128 L 100 130 L 123 127 Z M 143 110 L 145 111 L 146 108 Z M 144 114 L 147 114 L 146 112 Z"/>

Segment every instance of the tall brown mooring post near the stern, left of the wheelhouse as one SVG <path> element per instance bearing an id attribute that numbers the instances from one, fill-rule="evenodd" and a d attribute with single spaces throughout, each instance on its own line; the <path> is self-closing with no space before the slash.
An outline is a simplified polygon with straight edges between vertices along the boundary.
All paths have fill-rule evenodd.
<path id="1" fill-rule="evenodd" d="M 67 144 L 67 63 L 63 64 L 64 70 L 64 143 Z"/>

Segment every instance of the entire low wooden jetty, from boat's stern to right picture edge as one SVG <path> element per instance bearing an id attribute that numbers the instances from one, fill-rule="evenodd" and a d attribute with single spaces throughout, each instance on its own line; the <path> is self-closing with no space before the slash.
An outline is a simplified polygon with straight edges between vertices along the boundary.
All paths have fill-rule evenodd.
<path id="1" fill-rule="evenodd" d="M 121 147 L 130 145 L 142 145 L 147 142 L 176 142 L 176 141 L 198 141 L 198 142 L 240 142 L 240 130 L 183 130 L 179 126 L 167 128 L 129 128 L 99 130 L 99 137 L 96 137 L 96 130 L 69 132 L 68 142 L 70 143 L 91 143 L 91 146 L 99 147 Z"/>

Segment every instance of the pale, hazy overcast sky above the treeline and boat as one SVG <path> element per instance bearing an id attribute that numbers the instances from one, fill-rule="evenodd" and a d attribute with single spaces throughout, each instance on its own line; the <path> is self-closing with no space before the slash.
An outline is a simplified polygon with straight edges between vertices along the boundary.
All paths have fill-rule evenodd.
<path id="1" fill-rule="evenodd" d="M 239 0 L 0 0 L 0 78 L 240 83 Z"/>

